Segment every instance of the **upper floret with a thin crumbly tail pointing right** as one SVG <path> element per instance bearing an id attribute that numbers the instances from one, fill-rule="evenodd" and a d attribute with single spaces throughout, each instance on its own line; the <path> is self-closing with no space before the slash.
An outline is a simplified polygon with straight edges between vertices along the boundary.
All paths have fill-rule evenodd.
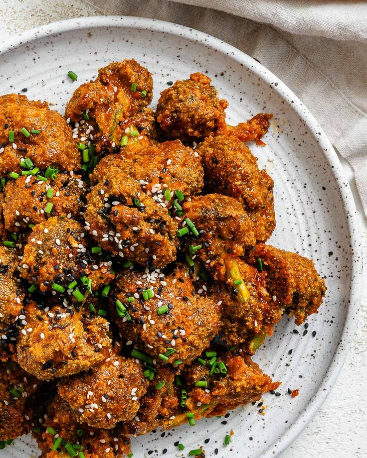
<path id="1" fill-rule="evenodd" d="M 246 122 L 231 126 L 225 122 L 228 103 L 219 100 L 211 79 L 193 73 L 188 80 L 176 83 L 161 93 L 157 106 L 157 122 L 166 138 L 179 138 L 185 143 L 215 135 L 235 135 L 242 141 L 256 140 L 269 128 L 271 114 L 260 113 Z"/>

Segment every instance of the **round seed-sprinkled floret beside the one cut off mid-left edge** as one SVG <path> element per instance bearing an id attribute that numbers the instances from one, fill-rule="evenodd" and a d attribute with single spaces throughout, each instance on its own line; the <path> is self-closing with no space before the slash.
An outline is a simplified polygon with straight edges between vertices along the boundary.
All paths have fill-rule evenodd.
<path id="1" fill-rule="evenodd" d="M 56 216 L 37 224 L 24 248 L 21 277 L 41 291 L 72 281 L 88 265 L 84 232 L 80 223 Z"/>

